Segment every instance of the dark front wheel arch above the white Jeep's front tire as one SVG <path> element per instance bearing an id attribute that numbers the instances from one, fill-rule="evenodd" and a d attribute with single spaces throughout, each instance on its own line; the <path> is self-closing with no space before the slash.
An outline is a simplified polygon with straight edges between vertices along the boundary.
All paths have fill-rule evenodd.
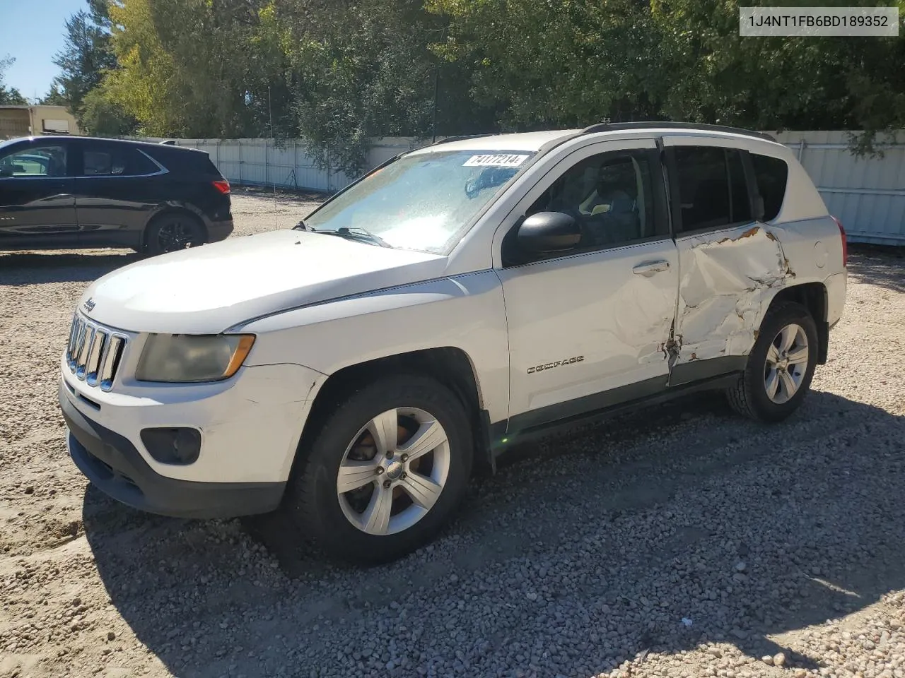
<path id="1" fill-rule="evenodd" d="M 319 433 L 330 408 L 349 393 L 382 377 L 400 374 L 425 375 L 449 388 L 462 401 L 472 423 L 474 466 L 492 466 L 490 418 L 483 409 L 481 388 L 471 357 L 456 346 L 395 353 L 363 363 L 343 367 L 329 375 L 320 386 L 302 428 L 299 447 L 292 462 L 293 473 L 299 466 L 306 443 Z"/>

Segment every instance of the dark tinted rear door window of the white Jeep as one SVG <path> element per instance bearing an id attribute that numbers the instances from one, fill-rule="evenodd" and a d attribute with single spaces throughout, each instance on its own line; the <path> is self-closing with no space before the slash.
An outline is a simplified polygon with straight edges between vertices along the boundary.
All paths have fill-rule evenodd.
<path id="1" fill-rule="evenodd" d="M 676 146 L 674 151 L 682 231 L 751 221 L 740 151 L 717 146 Z"/>

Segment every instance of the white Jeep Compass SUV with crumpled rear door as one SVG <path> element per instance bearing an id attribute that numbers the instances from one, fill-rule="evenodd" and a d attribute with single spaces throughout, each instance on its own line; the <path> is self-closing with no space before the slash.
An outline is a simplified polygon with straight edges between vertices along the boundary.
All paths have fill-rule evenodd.
<path id="1" fill-rule="evenodd" d="M 153 513 L 429 540 L 551 426 L 721 389 L 778 421 L 843 312 L 841 224 L 785 146 L 643 123 L 445 140 L 294 229 L 120 268 L 62 355 L 69 450 Z"/>

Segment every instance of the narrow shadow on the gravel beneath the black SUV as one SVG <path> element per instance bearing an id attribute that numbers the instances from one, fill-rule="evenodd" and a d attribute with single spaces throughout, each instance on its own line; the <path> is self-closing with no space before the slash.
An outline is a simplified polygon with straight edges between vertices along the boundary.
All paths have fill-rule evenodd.
<path id="1" fill-rule="evenodd" d="M 111 270 L 141 259 L 132 251 L 88 254 L 81 252 L 0 252 L 0 286 L 44 285 L 57 282 L 92 282 Z"/>

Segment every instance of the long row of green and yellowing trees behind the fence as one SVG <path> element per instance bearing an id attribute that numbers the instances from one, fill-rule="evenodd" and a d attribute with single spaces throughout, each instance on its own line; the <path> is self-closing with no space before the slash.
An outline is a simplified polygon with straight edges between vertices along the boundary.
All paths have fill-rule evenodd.
<path id="1" fill-rule="evenodd" d="M 301 136 L 349 172 L 381 136 L 905 127 L 905 41 L 741 38 L 734 2 L 90 0 L 67 31 L 60 90 L 89 129 Z"/>

